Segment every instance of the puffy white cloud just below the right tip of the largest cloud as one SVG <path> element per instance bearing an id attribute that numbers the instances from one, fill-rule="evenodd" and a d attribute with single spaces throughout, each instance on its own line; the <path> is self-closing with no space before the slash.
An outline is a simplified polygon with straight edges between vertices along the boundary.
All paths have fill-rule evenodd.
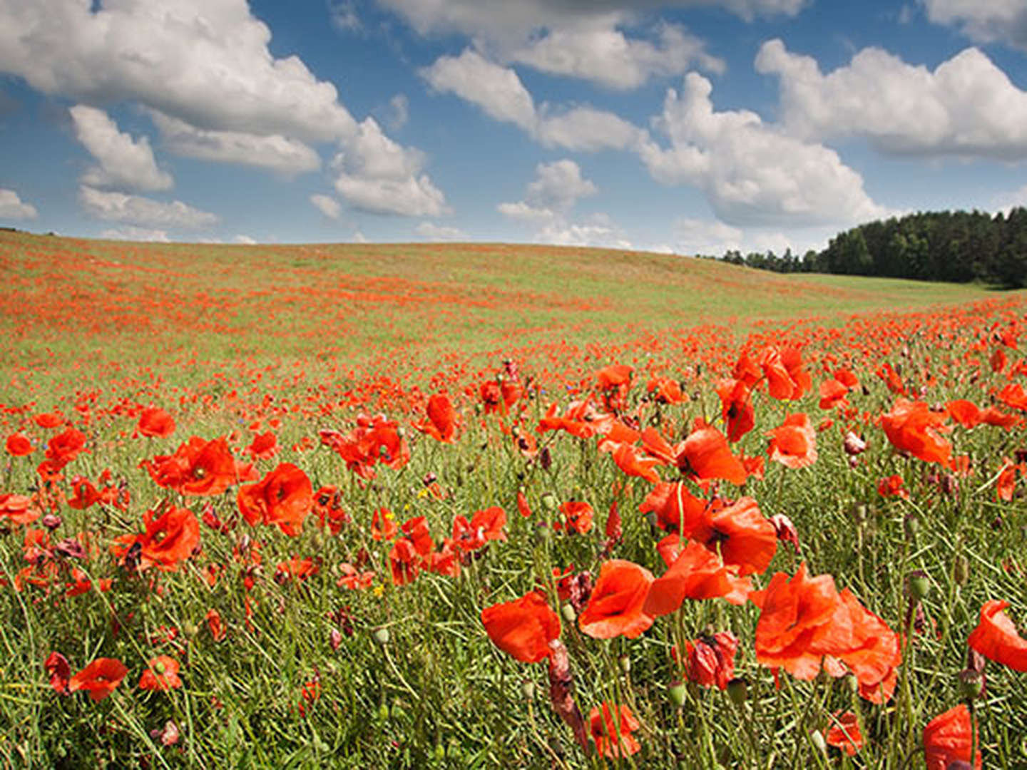
<path id="1" fill-rule="evenodd" d="M 335 189 L 353 208 L 371 214 L 438 217 L 446 196 L 421 174 L 423 154 L 403 147 L 378 127 L 374 118 L 359 125 L 354 140 L 335 156 Z"/>

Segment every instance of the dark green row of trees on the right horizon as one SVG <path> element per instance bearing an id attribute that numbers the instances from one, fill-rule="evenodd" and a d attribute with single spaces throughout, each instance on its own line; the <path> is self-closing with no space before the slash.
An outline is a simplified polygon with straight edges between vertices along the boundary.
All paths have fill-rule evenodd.
<path id="1" fill-rule="evenodd" d="M 823 252 L 801 258 L 791 249 L 729 251 L 723 258 L 779 273 L 817 272 L 1027 286 L 1027 208 L 1009 214 L 926 211 L 895 217 L 839 233 Z"/>

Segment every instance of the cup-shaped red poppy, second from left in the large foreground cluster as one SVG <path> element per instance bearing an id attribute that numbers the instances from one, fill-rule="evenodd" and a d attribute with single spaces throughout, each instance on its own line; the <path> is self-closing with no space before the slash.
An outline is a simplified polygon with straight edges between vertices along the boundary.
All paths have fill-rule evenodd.
<path id="1" fill-rule="evenodd" d="M 593 639 L 635 639 L 652 625 L 643 611 L 652 573 L 632 562 L 604 562 L 588 604 L 578 616 L 578 627 Z"/>

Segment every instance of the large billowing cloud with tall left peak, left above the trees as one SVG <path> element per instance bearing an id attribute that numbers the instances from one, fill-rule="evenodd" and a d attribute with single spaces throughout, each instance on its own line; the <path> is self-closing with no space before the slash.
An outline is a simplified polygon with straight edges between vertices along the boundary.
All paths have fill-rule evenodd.
<path id="1" fill-rule="evenodd" d="M 753 112 L 717 112 L 712 90 L 695 73 L 680 94 L 668 89 L 653 122 L 670 146 L 647 140 L 639 148 L 653 179 L 695 185 L 731 225 L 847 223 L 883 214 L 837 153 L 785 136 Z"/>

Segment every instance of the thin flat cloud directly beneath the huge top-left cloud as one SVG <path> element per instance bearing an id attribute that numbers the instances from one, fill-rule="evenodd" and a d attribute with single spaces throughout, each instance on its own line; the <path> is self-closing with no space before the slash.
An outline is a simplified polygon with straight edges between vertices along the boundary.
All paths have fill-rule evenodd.
<path id="1" fill-rule="evenodd" d="M 245 131 L 196 128 L 185 121 L 150 111 L 170 152 L 187 158 L 216 163 L 238 163 L 291 176 L 320 167 L 320 158 L 310 147 L 280 133 L 261 136 Z"/>

